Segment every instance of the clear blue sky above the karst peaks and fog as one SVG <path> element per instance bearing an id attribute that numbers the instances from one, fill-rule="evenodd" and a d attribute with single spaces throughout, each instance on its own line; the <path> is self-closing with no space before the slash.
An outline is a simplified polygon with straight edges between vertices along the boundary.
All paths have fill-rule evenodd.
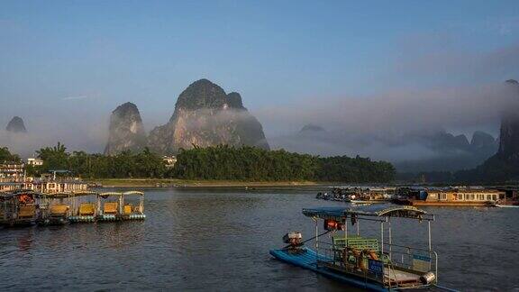
<path id="1" fill-rule="evenodd" d="M 261 119 L 301 100 L 519 78 L 499 59 L 518 43 L 519 1 L 0 1 L 0 122 L 101 120 L 132 101 L 150 129 L 199 78 Z"/>

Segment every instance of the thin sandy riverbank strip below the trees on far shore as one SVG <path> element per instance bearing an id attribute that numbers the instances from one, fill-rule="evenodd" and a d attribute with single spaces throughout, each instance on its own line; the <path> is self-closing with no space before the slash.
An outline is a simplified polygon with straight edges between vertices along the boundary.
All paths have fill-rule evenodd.
<path id="1" fill-rule="evenodd" d="M 173 178 L 92 178 L 85 179 L 85 181 L 98 187 L 312 187 L 327 185 L 314 181 L 233 181 Z"/>

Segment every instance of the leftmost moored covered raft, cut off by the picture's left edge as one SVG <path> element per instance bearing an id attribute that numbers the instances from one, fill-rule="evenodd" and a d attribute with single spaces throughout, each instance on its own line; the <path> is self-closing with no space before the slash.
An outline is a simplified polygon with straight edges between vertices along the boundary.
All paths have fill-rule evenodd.
<path id="1" fill-rule="evenodd" d="M 0 224 L 5 227 L 31 226 L 36 224 L 40 213 L 37 200 L 40 194 L 32 191 L 15 191 L 0 196 Z"/>

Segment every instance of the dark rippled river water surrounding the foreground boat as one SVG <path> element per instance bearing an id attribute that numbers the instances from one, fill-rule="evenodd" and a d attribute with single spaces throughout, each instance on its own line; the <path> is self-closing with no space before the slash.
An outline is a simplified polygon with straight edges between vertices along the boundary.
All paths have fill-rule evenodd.
<path id="1" fill-rule="evenodd" d="M 0 291 L 338 291 L 341 284 L 269 255 L 288 231 L 312 237 L 303 207 L 343 205 L 314 194 L 150 189 L 142 222 L 0 229 Z M 436 215 L 432 248 L 442 286 L 519 290 L 519 209 L 425 209 Z M 426 224 L 403 221 L 393 230 L 394 243 L 426 246 Z"/>

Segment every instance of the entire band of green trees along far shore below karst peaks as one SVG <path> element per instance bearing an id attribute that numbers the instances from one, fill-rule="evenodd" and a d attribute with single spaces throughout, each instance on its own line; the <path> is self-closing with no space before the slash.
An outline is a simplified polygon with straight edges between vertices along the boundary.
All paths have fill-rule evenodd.
<path id="1" fill-rule="evenodd" d="M 3 152 L 6 159 L 20 160 L 7 149 Z M 51 169 L 67 169 L 88 181 L 121 187 L 152 187 L 157 184 L 250 186 L 252 182 L 269 186 L 319 182 L 386 183 L 396 175 L 393 165 L 385 161 L 372 161 L 359 156 L 322 158 L 251 146 L 219 145 L 180 150 L 177 162 L 170 168 L 159 154 L 148 149 L 104 155 L 69 152 L 58 143 L 54 147 L 42 148 L 37 155 L 43 160 L 43 165 L 29 166 L 29 175 Z"/>

